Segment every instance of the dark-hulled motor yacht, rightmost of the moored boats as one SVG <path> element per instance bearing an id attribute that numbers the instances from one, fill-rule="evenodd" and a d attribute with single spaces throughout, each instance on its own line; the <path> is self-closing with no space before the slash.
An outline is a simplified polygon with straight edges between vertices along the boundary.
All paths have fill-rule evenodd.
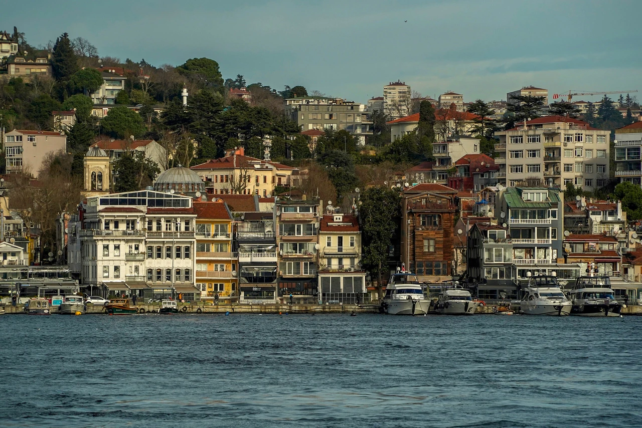
<path id="1" fill-rule="evenodd" d="M 609 277 L 578 277 L 569 290 L 571 315 L 620 316 L 622 304 L 615 300 Z"/>

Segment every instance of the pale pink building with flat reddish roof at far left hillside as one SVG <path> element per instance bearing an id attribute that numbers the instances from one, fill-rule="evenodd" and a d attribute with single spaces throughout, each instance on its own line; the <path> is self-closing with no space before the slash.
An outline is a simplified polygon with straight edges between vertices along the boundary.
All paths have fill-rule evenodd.
<path id="1" fill-rule="evenodd" d="M 4 134 L 6 171 L 28 171 L 38 178 L 42 161 L 48 153 L 67 151 L 67 136 L 59 132 L 13 130 Z"/>

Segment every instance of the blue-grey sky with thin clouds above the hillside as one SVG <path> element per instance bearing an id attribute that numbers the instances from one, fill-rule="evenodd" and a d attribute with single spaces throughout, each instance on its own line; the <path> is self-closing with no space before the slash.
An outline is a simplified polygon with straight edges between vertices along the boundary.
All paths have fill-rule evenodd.
<path id="1" fill-rule="evenodd" d="M 5 8 L 0 30 L 17 26 L 35 46 L 66 31 L 154 65 L 206 56 L 223 78 L 362 103 L 397 79 L 473 101 L 527 85 L 642 90 L 641 12 L 639 0 L 27 0 Z"/>

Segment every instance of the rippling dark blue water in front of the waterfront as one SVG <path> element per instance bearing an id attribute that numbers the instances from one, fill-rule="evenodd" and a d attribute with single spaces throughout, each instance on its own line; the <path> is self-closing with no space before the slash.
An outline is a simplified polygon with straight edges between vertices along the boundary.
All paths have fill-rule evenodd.
<path id="1" fill-rule="evenodd" d="M 3 427 L 639 427 L 642 317 L 0 317 Z"/>

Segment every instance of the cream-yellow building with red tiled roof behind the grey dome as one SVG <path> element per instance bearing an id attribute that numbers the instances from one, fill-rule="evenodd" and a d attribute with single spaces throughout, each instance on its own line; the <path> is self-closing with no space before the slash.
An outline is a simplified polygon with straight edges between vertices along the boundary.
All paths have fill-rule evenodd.
<path id="1" fill-rule="evenodd" d="M 211 194 L 257 194 L 272 195 L 274 187 L 296 185 L 299 170 L 245 156 L 245 150 L 237 148 L 223 158 L 213 159 L 191 167 L 205 182 Z"/>

